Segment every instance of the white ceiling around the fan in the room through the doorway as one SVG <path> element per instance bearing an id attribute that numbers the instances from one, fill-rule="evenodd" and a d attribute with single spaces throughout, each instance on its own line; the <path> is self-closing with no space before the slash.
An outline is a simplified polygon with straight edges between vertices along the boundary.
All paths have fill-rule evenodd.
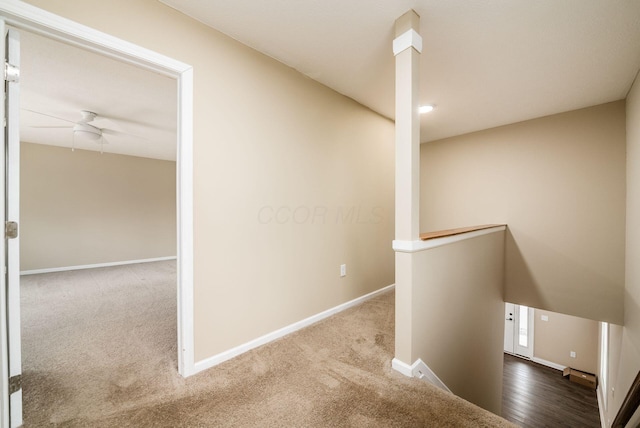
<path id="1" fill-rule="evenodd" d="M 176 80 L 26 31 L 20 42 L 22 141 L 71 148 L 72 122 L 89 110 L 105 144 L 76 137 L 76 148 L 176 159 Z"/>

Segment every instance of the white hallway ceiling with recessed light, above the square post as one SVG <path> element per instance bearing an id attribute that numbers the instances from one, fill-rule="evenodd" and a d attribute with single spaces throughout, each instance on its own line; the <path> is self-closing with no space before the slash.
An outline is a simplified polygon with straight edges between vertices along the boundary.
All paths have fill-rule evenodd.
<path id="1" fill-rule="evenodd" d="M 422 141 L 625 98 L 638 0 L 160 0 L 394 117 L 395 19 L 421 16 Z"/>

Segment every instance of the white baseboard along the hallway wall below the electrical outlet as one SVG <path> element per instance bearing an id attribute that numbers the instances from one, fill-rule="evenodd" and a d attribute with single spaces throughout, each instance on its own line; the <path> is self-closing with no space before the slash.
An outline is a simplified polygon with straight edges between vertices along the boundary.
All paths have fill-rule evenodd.
<path id="1" fill-rule="evenodd" d="M 286 336 L 287 334 L 291 334 L 302 328 L 308 327 L 311 324 L 317 323 L 318 321 L 321 321 L 325 318 L 330 317 L 331 315 L 335 315 L 338 312 L 342 312 L 345 309 L 349 309 L 353 306 L 356 306 L 366 300 L 369 300 L 379 294 L 384 293 L 385 291 L 389 291 L 394 287 L 395 287 L 395 284 L 391 284 L 389 286 L 381 288 L 380 290 L 373 291 L 369 294 L 365 294 L 364 296 L 360 296 L 356 299 L 350 300 L 346 303 L 343 303 L 331 309 L 327 309 L 324 312 L 320 312 L 319 314 L 312 315 L 309 318 L 305 318 L 301 321 L 290 324 L 279 330 L 273 331 L 271 333 L 267 333 L 264 336 L 258 337 L 257 339 L 254 339 L 242 345 L 236 346 L 235 348 L 231 348 L 228 351 L 224 351 L 212 357 L 206 358 L 202 361 L 198 361 L 197 363 L 195 363 L 193 374 L 196 374 L 203 370 L 217 366 L 218 364 L 223 363 L 227 360 L 230 360 L 231 358 L 237 357 L 240 354 L 244 354 L 247 351 L 250 351 L 259 346 L 265 345 L 269 342 L 273 342 L 276 339 L 280 339 L 281 337 Z"/>

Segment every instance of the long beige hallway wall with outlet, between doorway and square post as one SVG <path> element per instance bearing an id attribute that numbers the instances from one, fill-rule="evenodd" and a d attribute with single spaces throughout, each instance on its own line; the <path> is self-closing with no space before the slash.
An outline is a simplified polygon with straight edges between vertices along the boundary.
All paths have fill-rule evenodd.
<path id="1" fill-rule="evenodd" d="M 29 3 L 194 67 L 196 361 L 393 283 L 391 121 L 155 0 Z"/>

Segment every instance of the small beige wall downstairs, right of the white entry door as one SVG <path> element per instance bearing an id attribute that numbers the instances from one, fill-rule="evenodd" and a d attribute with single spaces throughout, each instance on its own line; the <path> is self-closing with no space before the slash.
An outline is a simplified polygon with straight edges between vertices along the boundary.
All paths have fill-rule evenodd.
<path id="1" fill-rule="evenodd" d="M 536 309 L 533 356 L 566 367 L 598 372 L 599 323 Z M 548 318 L 542 321 L 542 316 Z M 574 351 L 576 358 L 571 358 Z"/>

